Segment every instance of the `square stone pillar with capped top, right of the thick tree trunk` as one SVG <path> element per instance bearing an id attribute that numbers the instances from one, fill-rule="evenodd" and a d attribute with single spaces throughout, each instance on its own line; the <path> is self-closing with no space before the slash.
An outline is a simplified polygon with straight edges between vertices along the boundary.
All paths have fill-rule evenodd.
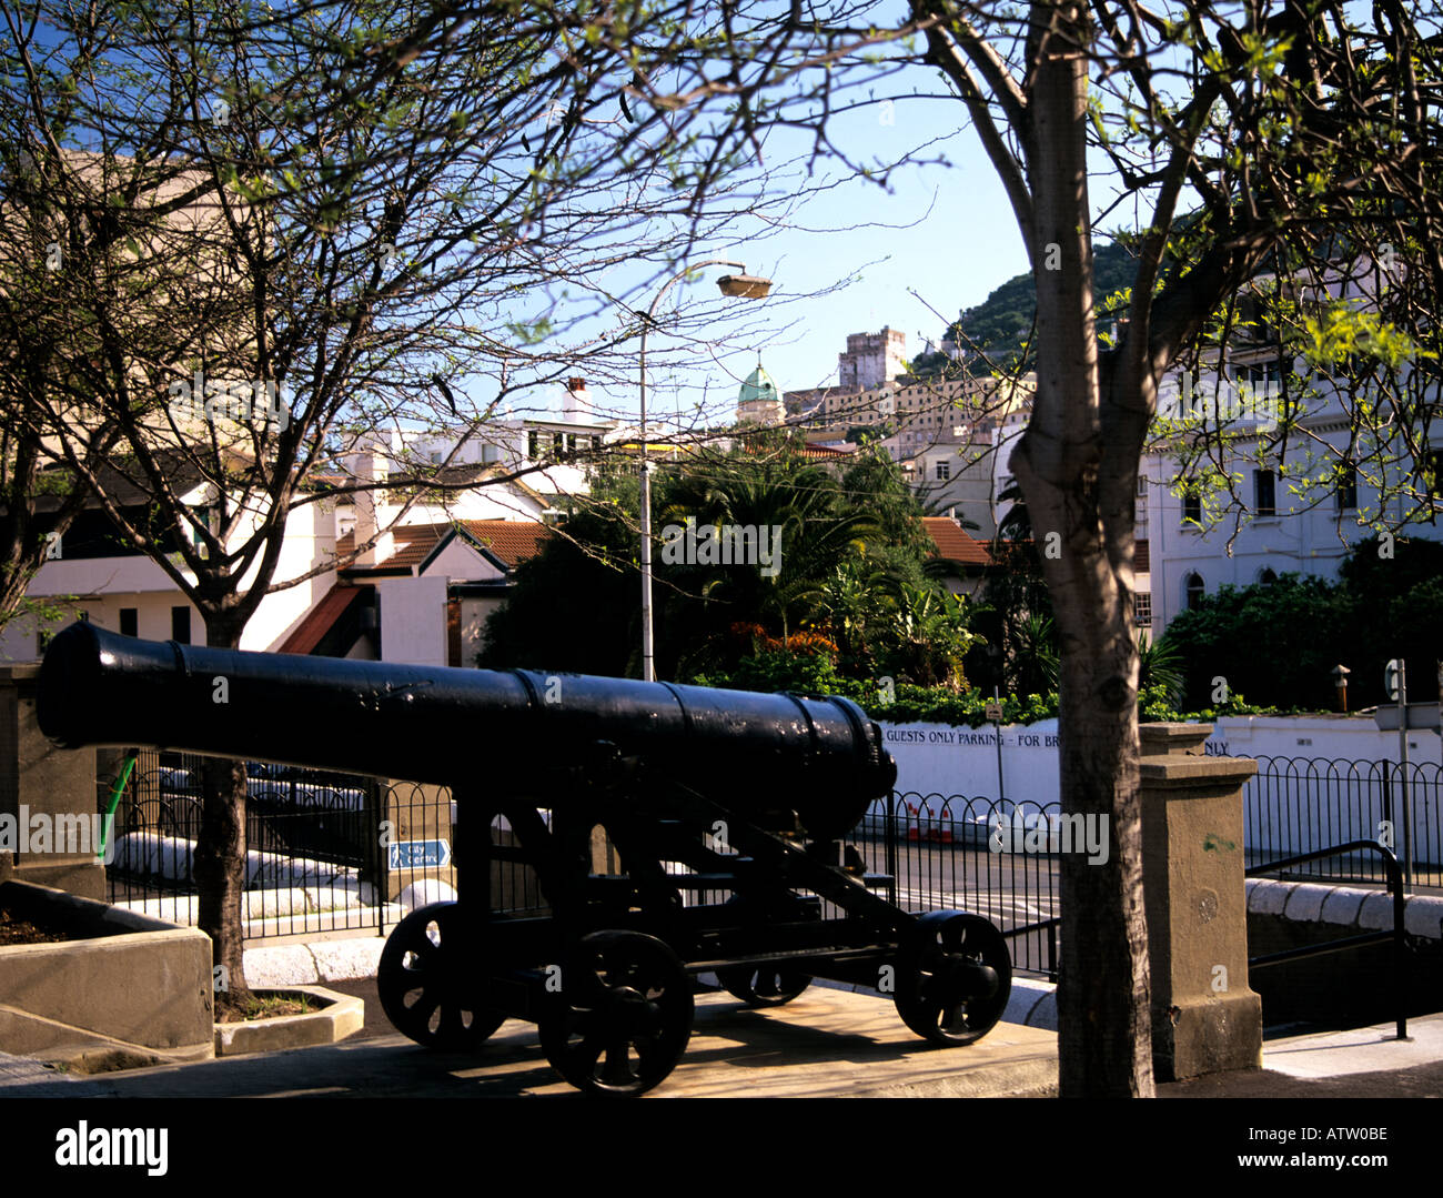
<path id="1" fill-rule="evenodd" d="M 1144 723 L 1143 896 L 1159 1081 L 1263 1064 L 1248 986 L 1242 784 L 1257 762 L 1209 758 L 1212 725 Z"/>

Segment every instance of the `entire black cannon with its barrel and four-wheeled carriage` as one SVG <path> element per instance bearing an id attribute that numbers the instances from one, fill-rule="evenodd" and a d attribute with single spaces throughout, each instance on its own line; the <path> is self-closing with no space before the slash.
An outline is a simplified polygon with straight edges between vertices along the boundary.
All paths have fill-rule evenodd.
<path id="1" fill-rule="evenodd" d="M 903 911 L 880 893 L 893 879 L 844 843 L 896 781 L 880 729 L 847 699 L 241 652 L 75 624 L 46 651 L 38 717 L 63 748 L 449 785 L 457 901 L 405 915 L 377 977 L 387 1016 L 427 1048 L 475 1049 L 525 1019 L 569 1083 L 635 1096 L 681 1058 L 697 993 L 769 1007 L 818 977 L 864 984 L 944 1046 L 975 1042 L 1007 1005 L 1012 961 L 991 922 Z M 498 860 L 535 872 L 545 914 L 491 909 Z"/>

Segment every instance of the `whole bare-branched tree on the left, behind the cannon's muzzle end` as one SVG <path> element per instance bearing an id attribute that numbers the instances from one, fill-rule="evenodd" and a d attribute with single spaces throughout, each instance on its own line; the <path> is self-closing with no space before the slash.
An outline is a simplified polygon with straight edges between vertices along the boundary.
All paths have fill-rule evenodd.
<path id="1" fill-rule="evenodd" d="M 338 564 L 280 574 L 293 521 L 368 486 L 317 475 L 387 427 L 444 430 L 455 459 L 579 361 L 629 381 L 635 297 L 759 211 L 743 188 L 732 212 L 693 212 L 672 186 L 684 146 L 626 169 L 639 121 L 590 81 L 610 52 L 544 10 L 40 3 L 3 19 L 16 576 L 43 553 L 25 505 L 53 479 L 69 511 L 89 497 L 154 559 L 211 647 Z M 603 312 L 618 320 L 597 333 Z M 410 463 L 387 485 L 468 484 Z M 234 1002 L 244 798 L 241 764 L 208 771 L 195 862 Z"/>

